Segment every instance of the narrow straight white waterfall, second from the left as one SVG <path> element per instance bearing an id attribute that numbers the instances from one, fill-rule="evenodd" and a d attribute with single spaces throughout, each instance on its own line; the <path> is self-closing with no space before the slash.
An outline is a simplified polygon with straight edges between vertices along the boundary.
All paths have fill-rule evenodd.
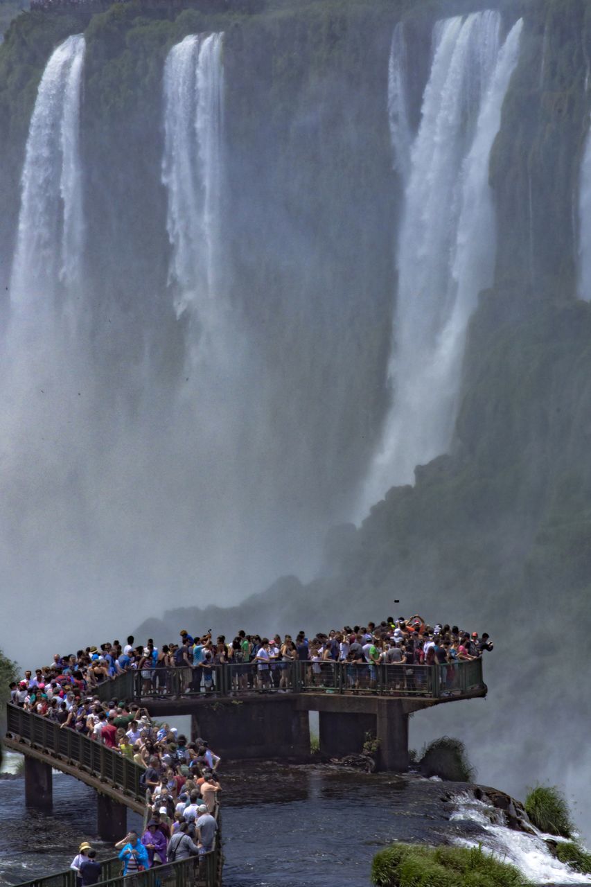
<path id="1" fill-rule="evenodd" d="M 180 316 L 190 308 L 201 328 L 215 320 L 219 297 L 219 215 L 223 187 L 222 34 L 189 35 L 164 68 L 164 158 L 169 285 Z"/>

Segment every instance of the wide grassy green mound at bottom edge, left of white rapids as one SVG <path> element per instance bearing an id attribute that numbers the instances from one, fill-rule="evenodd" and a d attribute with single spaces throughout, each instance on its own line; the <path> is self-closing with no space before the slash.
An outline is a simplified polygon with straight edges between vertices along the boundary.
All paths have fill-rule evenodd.
<path id="1" fill-rule="evenodd" d="M 514 866 L 481 847 L 392 844 L 372 863 L 375 887 L 522 887 L 529 882 Z"/>

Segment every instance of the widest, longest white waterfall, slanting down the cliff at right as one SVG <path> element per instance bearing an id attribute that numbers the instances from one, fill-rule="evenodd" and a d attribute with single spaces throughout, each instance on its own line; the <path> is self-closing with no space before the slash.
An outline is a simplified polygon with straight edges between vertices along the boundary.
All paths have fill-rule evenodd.
<path id="1" fill-rule="evenodd" d="M 520 20 L 501 50 L 497 12 L 454 17 L 434 30 L 398 240 L 393 403 L 364 507 L 391 485 L 411 482 L 416 465 L 451 443 L 466 327 L 478 292 L 493 282 L 488 162 L 521 28 Z M 399 150 L 399 140 L 392 146 Z"/>

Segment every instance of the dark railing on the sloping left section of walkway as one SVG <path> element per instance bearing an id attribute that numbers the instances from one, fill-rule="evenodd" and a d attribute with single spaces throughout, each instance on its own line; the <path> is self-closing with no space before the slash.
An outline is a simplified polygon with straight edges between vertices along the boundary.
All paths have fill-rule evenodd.
<path id="1" fill-rule="evenodd" d="M 120 752 L 68 727 L 62 729 L 48 718 L 25 711 L 12 703 L 6 706 L 6 722 L 7 734 L 27 740 L 52 757 L 80 767 L 101 781 L 111 782 L 123 794 L 130 795 L 140 803 L 145 802 L 140 784 L 144 768 Z"/>

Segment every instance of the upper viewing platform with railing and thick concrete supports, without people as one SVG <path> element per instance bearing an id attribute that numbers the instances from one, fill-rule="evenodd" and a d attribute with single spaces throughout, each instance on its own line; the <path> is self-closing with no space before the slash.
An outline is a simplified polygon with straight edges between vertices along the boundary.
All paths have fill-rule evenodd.
<path id="1" fill-rule="evenodd" d="M 203 736 L 226 760 L 310 759 L 308 712 L 319 712 L 320 754 L 359 753 L 371 734 L 377 765 L 408 766 L 408 716 L 415 711 L 486 695 L 482 660 L 454 665 L 278 663 L 263 682 L 248 664 L 216 665 L 206 685 L 190 668 L 128 671 L 97 688 L 109 703 L 135 701 L 154 718 L 192 716 L 192 735 Z M 195 677 L 197 675 L 197 678 Z M 283 677 L 283 691 L 277 685 Z"/>

